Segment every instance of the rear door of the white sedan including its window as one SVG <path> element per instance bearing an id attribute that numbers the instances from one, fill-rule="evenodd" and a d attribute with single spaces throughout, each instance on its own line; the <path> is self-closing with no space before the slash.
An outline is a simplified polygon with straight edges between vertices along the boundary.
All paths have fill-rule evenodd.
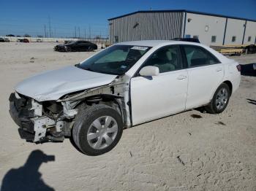
<path id="1" fill-rule="evenodd" d="M 188 91 L 186 109 L 208 104 L 224 77 L 220 61 L 203 47 L 182 45 L 187 59 Z"/>

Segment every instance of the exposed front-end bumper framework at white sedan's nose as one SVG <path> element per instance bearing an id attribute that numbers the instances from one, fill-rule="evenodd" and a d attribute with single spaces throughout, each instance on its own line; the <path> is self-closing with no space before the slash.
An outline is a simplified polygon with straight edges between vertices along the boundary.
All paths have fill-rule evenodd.
<path id="1" fill-rule="evenodd" d="M 64 136 L 50 136 L 48 130 L 50 128 L 59 128 L 63 122 L 56 122 L 42 115 L 42 105 L 32 100 L 31 98 L 20 98 L 15 93 L 10 95 L 10 115 L 12 120 L 20 127 L 18 132 L 21 139 L 34 143 L 42 143 L 45 141 L 63 141 Z"/>

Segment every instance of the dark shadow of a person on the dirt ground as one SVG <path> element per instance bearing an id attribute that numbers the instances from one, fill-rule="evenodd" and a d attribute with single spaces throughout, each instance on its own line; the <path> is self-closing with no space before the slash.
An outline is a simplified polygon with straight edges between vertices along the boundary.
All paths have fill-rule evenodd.
<path id="1" fill-rule="evenodd" d="M 29 191 L 29 190 L 44 190 L 53 191 L 41 179 L 42 174 L 39 173 L 39 167 L 42 163 L 54 161 L 54 155 L 45 155 L 41 150 L 34 150 L 29 155 L 26 163 L 18 169 L 12 168 L 5 174 L 1 184 L 1 191 Z"/>

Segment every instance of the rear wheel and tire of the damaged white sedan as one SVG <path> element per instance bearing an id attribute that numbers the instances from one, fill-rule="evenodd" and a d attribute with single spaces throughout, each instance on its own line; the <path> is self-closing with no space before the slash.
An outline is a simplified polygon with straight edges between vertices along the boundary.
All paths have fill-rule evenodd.
<path id="1" fill-rule="evenodd" d="M 222 83 L 214 93 L 210 104 L 205 107 L 206 111 L 211 114 L 219 114 L 223 112 L 230 100 L 230 88 L 227 84 Z"/>

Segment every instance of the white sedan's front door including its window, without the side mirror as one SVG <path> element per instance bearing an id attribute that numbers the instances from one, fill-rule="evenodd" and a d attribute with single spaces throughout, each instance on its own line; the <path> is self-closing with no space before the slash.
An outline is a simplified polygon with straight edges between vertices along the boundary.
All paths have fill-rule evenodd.
<path id="1" fill-rule="evenodd" d="M 180 48 L 177 45 L 159 48 L 143 66 L 157 66 L 160 73 L 154 77 L 139 74 L 132 77 L 132 125 L 184 111 L 187 69 L 182 66 Z"/>

